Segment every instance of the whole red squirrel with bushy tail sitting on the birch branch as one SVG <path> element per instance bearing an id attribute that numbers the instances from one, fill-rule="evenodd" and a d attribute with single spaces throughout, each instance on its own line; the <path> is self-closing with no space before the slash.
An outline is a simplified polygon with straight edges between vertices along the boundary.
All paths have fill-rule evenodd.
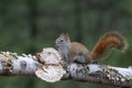
<path id="1" fill-rule="evenodd" d="M 106 57 L 113 47 L 124 52 L 128 42 L 120 33 L 108 32 L 100 37 L 92 52 L 89 52 L 81 43 L 70 42 L 68 34 L 61 34 L 56 40 L 56 46 L 61 56 L 67 63 L 90 64 Z"/>

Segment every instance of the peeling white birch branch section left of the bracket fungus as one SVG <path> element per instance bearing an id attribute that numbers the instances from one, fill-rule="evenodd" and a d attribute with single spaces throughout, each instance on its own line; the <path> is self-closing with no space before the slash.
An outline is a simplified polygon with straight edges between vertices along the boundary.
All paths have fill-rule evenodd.
<path id="1" fill-rule="evenodd" d="M 41 64 L 35 56 L 16 55 L 15 53 L 0 53 L 0 75 L 35 75 L 35 70 Z"/>

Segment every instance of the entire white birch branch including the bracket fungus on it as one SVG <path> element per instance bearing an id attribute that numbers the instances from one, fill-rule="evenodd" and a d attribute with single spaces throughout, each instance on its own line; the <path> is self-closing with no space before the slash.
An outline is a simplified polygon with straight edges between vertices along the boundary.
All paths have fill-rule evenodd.
<path id="1" fill-rule="evenodd" d="M 44 48 L 36 56 L 15 53 L 0 53 L 0 75 L 30 75 L 44 81 L 55 82 L 74 79 L 116 87 L 132 87 L 132 67 L 121 68 L 99 64 L 68 64 L 61 61 L 61 55 L 54 48 Z"/>

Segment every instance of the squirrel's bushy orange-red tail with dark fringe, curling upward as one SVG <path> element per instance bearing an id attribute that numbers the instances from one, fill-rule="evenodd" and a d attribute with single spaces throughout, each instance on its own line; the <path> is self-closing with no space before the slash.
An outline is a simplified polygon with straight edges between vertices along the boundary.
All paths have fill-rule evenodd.
<path id="1" fill-rule="evenodd" d="M 106 33 L 97 43 L 94 51 L 90 53 L 91 57 L 100 59 L 105 57 L 111 48 L 117 48 L 124 52 L 128 47 L 127 40 L 119 32 L 108 32 Z"/>

